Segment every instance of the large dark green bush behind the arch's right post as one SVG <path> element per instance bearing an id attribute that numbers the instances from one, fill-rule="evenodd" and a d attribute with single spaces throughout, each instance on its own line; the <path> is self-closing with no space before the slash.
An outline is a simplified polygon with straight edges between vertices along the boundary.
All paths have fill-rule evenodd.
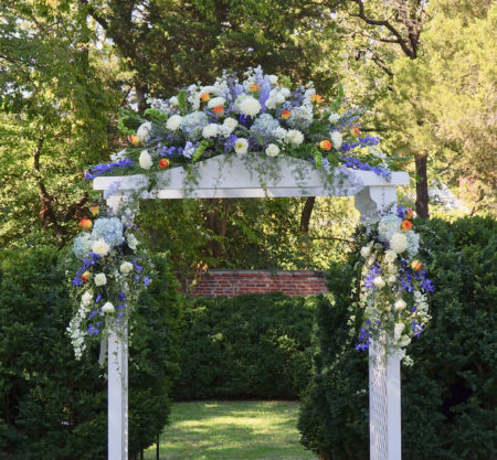
<path id="1" fill-rule="evenodd" d="M 406 460 L 496 458 L 497 225 L 491 218 L 417 222 L 434 281 L 433 320 L 402 368 Z M 352 256 L 353 258 L 353 256 Z M 345 332 L 350 267 L 329 277 L 318 313 L 319 352 L 299 417 L 303 443 L 326 460 L 368 458 L 367 356 Z"/>

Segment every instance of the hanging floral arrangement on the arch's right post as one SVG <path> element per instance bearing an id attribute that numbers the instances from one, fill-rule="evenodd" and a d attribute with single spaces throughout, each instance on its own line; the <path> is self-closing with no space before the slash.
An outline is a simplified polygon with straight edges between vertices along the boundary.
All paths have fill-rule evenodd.
<path id="1" fill-rule="evenodd" d="M 423 264 L 416 259 L 420 236 L 413 231 L 413 216 L 411 208 L 398 206 L 396 213 L 362 228 L 359 292 L 352 289 L 359 295 L 357 306 L 363 317 L 356 349 L 368 350 L 371 339 L 384 334 L 388 350 L 406 364 L 412 360 L 405 347 L 431 319 L 427 292 L 433 291 Z"/>

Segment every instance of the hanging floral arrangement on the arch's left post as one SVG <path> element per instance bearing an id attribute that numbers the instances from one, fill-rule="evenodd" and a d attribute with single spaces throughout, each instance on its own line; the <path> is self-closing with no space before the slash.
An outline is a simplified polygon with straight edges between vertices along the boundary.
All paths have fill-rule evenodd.
<path id="1" fill-rule="evenodd" d="M 91 207 L 92 218 L 83 218 L 83 232 L 74 239 L 73 254 L 81 263 L 72 279 L 75 288 L 74 317 L 67 333 L 81 359 L 88 336 L 103 339 L 108 328 L 124 324 L 142 289 L 150 284 L 150 264 L 135 235 L 133 214 L 99 216 Z"/>

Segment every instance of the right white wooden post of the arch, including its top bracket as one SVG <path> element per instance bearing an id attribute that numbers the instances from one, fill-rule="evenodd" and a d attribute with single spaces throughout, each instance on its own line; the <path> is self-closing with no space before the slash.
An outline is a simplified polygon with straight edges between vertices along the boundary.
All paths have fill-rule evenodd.
<path id="1" fill-rule="evenodd" d="M 395 186 L 367 186 L 356 194 L 356 207 L 362 220 L 396 202 Z M 401 460 L 401 379 L 400 359 L 387 355 L 388 338 L 369 347 L 369 446 L 370 460 Z"/>

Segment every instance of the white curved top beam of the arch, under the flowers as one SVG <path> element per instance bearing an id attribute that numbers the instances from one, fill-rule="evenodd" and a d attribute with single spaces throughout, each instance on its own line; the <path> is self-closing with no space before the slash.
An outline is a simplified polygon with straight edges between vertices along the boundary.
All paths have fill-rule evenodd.
<path id="1" fill-rule="evenodd" d="M 332 181 L 322 170 L 307 161 L 288 157 L 219 156 L 191 167 L 158 172 L 155 193 L 141 192 L 141 199 L 212 199 L 212 197 L 279 197 L 279 196 L 351 196 L 366 186 L 395 188 L 409 184 L 406 172 L 393 172 L 390 181 L 371 171 L 350 171 L 345 175 L 336 169 Z M 112 184 L 117 195 L 147 188 L 145 174 L 99 176 L 95 190 Z"/>

